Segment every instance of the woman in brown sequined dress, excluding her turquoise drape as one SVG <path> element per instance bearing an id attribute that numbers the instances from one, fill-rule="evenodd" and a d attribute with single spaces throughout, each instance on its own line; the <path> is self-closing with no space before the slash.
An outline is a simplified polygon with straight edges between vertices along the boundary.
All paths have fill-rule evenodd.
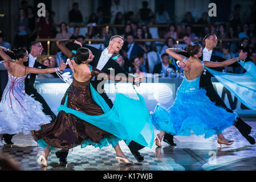
<path id="1" fill-rule="evenodd" d="M 76 41 L 74 43 L 80 44 Z M 58 46 L 61 50 L 65 49 L 65 51 L 70 51 L 63 44 Z M 78 49 L 76 54 L 71 51 L 70 54 L 71 57 L 75 56 L 74 60 L 71 60 L 74 68 L 74 77 L 72 84 L 64 94 L 61 105 L 66 105 L 68 108 L 88 115 L 104 114 L 104 111 L 96 104 L 91 96 L 90 80 L 94 76 L 101 76 L 111 80 L 113 78 L 96 68 L 92 68 L 88 64 L 94 59 L 94 55 L 92 55 L 90 49 L 82 47 Z M 116 76 L 114 80 L 133 82 L 137 80 L 141 81 L 141 78 L 141 76 L 136 78 Z M 63 151 L 78 145 L 85 147 L 88 144 L 100 148 L 112 144 L 116 151 L 116 159 L 119 163 L 120 161 L 125 164 L 132 163 L 121 151 L 118 140 L 115 139 L 116 137 L 114 135 L 76 117 L 74 114 L 66 113 L 63 110 L 59 111 L 54 123 L 43 125 L 38 131 L 31 131 L 31 134 L 39 146 L 46 148 L 38 160 L 38 163 L 43 166 L 47 166 L 47 158 L 52 149 L 51 147 L 62 148 Z M 86 142 L 85 144 L 84 141 L 89 142 Z"/>

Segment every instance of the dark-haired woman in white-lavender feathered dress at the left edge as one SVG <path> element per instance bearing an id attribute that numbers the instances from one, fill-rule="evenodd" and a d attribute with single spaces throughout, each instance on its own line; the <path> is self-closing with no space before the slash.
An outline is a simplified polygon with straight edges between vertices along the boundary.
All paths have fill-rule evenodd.
<path id="1" fill-rule="evenodd" d="M 29 134 L 30 130 L 38 130 L 40 125 L 50 123 L 51 118 L 42 111 L 40 102 L 25 93 L 24 80 L 29 73 L 54 73 L 66 68 L 63 62 L 59 68 L 38 69 L 25 67 L 23 62 L 28 60 L 25 49 L 15 49 L 15 60 L 12 60 L 0 47 L 0 56 L 9 63 L 7 68 L 9 80 L 3 91 L 0 102 L 0 146 L 3 134 Z"/>

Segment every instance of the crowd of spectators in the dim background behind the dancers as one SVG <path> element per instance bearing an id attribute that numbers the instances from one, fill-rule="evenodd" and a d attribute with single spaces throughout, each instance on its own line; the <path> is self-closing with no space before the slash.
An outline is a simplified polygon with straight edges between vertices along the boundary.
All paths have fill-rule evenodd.
<path id="1" fill-rule="evenodd" d="M 235 5 L 234 10 L 230 12 L 229 20 L 223 24 L 210 24 L 208 22 L 208 13 L 202 13 L 201 18 L 196 20 L 191 12 L 185 13 L 181 22 L 172 22 L 169 14 L 164 9 L 164 5 L 157 7 L 157 12 L 154 13 L 148 8 L 148 2 L 143 1 L 142 7 L 137 12 L 125 12 L 124 7 L 120 5 L 119 0 L 113 1 L 111 6 L 111 18 L 108 20 L 104 15 L 103 7 L 97 8 L 96 13 L 92 13 L 88 19 L 83 17 L 79 10 L 79 4 L 73 3 L 72 10 L 69 12 L 68 23 L 75 23 L 74 30 L 68 31 L 66 22 L 59 24 L 59 27 L 54 26 L 55 13 L 46 10 L 45 17 L 35 15 L 34 8 L 22 3 L 22 8 L 19 9 L 18 19 L 15 22 L 15 38 L 14 43 L 5 42 L 4 34 L 0 32 L 0 46 L 6 48 L 23 47 L 27 48 L 30 42 L 36 38 L 58 38 L 58 39 L 76 39 L 81 43 L 84 39 L 104 39 L 104 42 L 96 43 L 100 47 L 108 46 L 109 38 L 112 35 L 121 35 L 125 38 L 123 48 L 120 50 L 119 58 L 116 60 L 128 72 L 139 73 L 161 73 L 166 72 L 169 68 L 173 72 L 181 72 L 180 68 L 175 64 L 175 60 L 166 55 L 165 49 L 170 47 L 180 47 L 185 49 L 187 45 L 200 43 L 204 48 L 204 36 L 209 33 L 217 35 L 218 39 L 235 39 L 232 41 L 219 42 L 214 52 L 224 57 L 231 59 L 238 55 L 238 51 L 243 49 L 248 53 L 247 60 L 251 60 L 256 65 L 256 28 L 255 28 L 255 12 L 251 11 L 249 18 L 242 22 L 240 18 L 241 5 Z M 255 7 L 254 3 L 253 7 Z M 253 9 L 252 7 L 252 9 Z M 78 24 L 87 24 L 88 31 L 86 34 L 81 34 Z M 117 24 L 123 25 L 120 27 L 98 27 L 96 24 Z M 149 31 L 148 24 L 166 24 L 169 26 L 159 27 L 158 37 L 165 39 L 165 42 L 159 45 L 155 42 L 144 42 L 135 39 L 152 39 L 153 36 Z M 204 26 L 193 26 L 194 24 L 204 24 Z M 176 40 L 182 39 L 183 42 L 177 45 Z M 193 39 L 200 41 L 193 42 Z M 47 43 L 42 42 L 44 48 L 43 54 L 47 53 Z M 57 53 L 56 53 L 57 52 Z M 42 63 L 49 67 L 58 65 L 63 55 L 56 50 L 56 57 L 44 57 Z M 117 55 L 117 54 L 116 54 Z M 113 55 L 115 56 L 115 55 Z M 51 60 L 52 59 L 52 60 Z M 227 72 L 242 73 L 243 70 L 225 68 Z M 45 76 L 47 77 L 47 76 Z"/>

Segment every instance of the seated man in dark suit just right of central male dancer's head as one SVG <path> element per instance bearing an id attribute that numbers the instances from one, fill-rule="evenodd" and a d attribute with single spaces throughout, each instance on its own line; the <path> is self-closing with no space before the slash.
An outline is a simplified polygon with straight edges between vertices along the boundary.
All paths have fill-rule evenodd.
<path id="1" fill-rule="evenodd" d="M 127 35 L 127 44 L 125 44 L 124 50 L 125 52 L 127 52 L 128 60 L 130 60 L 131 57 L 136 56 L 141 52 L 144 52 L 143 48 L 141 48 L 141 46 L 139 46 L 139 44 L 135 42 L 133 34 Z"/>

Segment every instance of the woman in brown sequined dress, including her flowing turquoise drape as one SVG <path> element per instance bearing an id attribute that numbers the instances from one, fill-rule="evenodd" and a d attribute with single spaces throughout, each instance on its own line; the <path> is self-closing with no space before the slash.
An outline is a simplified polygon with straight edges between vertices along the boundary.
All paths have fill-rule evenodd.
<path id="1" fill-rule="evenodd" d="M 62 51 L 69 51 L 64 45 L 59 47 Z M 88 145 L 101 148 L 111 144 L 119 163 L 131 164 L 121 151 L 119 140 L 126 143 L 135 140 L 149 147 L 153 144 L 153 127 L 145 102 L 139 94 L 139 100 L 134 100 L 117 93 L 115 104 L 110 109 L 94 90 L 90 80 L 100 76 L 108 80 L 133 82 L 141 81 L 142 76 L 114 77 L 92 68 L 88 63 L 94 59 L 94 55 L 88 48 L 79 48 L 75 54 L 70 53 L 74 55 L 74 60 L 71 60 L 74 78 L 58 107 L 58 116 L 54 123 L 31 132 L 39 146 L 46 148 L 38 163 L 47 166 L 48 155 L 54 148 L 68 150 L 79 145 L 82 148 Z"/>

